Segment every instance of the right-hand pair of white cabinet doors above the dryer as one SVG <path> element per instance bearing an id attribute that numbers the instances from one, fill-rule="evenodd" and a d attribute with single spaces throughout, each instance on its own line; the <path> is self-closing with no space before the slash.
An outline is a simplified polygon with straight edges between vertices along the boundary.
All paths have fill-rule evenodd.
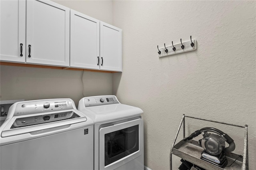
<path id="1" fill-rule="evenodd" d="M 70 67 L 122 71 L 122 30 L 71 10 Z"/>

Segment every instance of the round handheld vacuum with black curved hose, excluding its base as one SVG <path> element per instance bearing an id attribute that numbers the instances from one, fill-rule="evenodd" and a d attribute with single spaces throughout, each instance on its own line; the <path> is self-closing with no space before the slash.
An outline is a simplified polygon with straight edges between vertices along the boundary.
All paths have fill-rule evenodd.
<path id="1" fill-rule="evenodd" d="M 208 132 L 214 132 L 216 134 L 211 134 Z M 218 130 L 217 128 L 212 127 L 205 127 L 201 128 L 200 130 L 196 130 L 190 136 L 184 138 L 184 141 L 190 140 L 199 134 L 202 134 L 204 138 L 200 139 L 198 141 L 198 144 L 206 150 L 211 155 L 218 155 L 223 150 L 224 152 L 232 152 L 235 150 L 236 145 L 234 143 L 234 140 L 228 136 L 228 134 L 222 132 L 221 130 Z M 229 144 L 227 148 L 225 148 L 225 142 Z"/>

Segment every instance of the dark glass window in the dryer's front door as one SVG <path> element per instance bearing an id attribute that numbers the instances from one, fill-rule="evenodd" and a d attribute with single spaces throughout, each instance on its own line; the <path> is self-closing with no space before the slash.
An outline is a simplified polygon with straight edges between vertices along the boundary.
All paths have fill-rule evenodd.
<path id="1" fill-rule="evenodd" d="M 139 125 L 105 134 L 105 166 L 139 150 Z"/>

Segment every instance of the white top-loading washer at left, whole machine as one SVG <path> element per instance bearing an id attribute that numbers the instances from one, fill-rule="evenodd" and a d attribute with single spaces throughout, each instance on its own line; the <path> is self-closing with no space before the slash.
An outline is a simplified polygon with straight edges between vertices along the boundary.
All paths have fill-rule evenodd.
<path id="1" fill-rule="evenodd" d="M 93 125 L 72 99 L 14 103 L 0 128 L 0 169 L 92 170 Z"/>

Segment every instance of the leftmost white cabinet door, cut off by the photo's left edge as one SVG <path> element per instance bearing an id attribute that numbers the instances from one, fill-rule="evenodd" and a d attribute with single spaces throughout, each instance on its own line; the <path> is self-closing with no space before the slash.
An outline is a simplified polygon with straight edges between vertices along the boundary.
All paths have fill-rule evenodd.
<path id="1" fill-rule="evenodd" d="M 0 0 L 0 59 L 25 62 L 25 0 Z"/>

